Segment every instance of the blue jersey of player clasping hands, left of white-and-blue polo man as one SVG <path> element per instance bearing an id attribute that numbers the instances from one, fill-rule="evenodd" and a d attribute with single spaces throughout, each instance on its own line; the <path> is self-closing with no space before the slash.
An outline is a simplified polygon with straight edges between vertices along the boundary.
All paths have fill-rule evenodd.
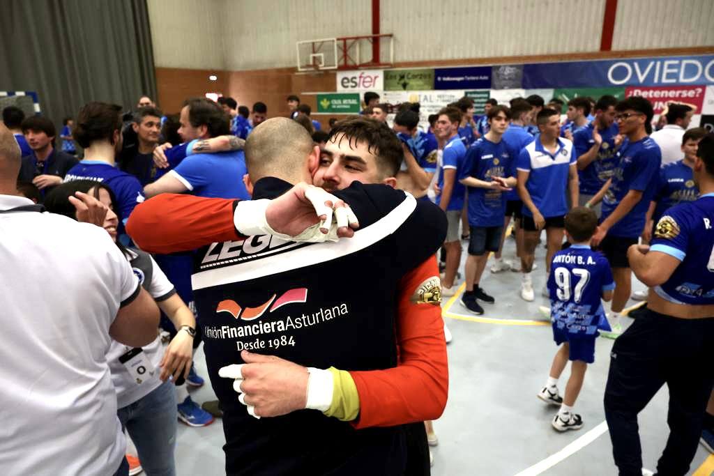
<path id="1" fill-rule="evenodd" d="M 493 143 L 478 139 L 466 153 L 458 178 L 478 178 L 490 182 L 491 177 L 513 177 L 515 168 L 508 146 L 501 139 Z M 468 191 L 468 224 L 471 226 L 503 226 L 506 214 L 506 194 L 483 187 L 466 187 Z"/>

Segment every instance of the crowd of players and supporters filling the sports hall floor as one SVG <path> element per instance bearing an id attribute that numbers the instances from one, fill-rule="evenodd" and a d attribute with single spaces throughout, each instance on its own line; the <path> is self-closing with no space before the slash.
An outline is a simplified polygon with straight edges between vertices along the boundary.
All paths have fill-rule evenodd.
<path id="1" fill-rule="evenodd" d="M 616 339 L 605 415 L 620 475 L 644 472 L 637 415 L 665 383 L 658 474 L 684 475 L 700 439 L 713 450 L 714 373 L 698 363 L 714 344 L 714 134 L 689 128 L 693 108 L 670 103 L 653 131 L 638 96 L 489 99 L 480 116 L 463 97 L 422 128 L 418 103 L 363 99 L 326 131 L 295 95 L 273 118 L 230 97 L 174 115 L 148 96 L 129 113 L 91 102 L 59 135 L 4 108 L 0 402 L 24 408 L 7 474 L 174 475 L 177 420 L 216 417 L 227 474 L 429 474 L 453 338 L 442 298 L 487 314 L 493 254 L 490 272 L 520 273 L 515 299 L 534 301 L 540 243 L 558 350 L 537 396 L 558 407 L 553 428 L 583 427 L 602 335 Z M 630 298 L 647 303 L 623 330 Z M 201 343 L 217 400 L 198 405 Z"/>

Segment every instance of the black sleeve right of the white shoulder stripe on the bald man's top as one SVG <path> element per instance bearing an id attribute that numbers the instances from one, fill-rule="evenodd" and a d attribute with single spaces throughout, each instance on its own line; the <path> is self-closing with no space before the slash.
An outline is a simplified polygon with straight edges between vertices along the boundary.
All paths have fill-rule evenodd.
<path id="1" fill-rule="evenodd" d="M 397 260 L 403 273 L 421 265 L 446 239 L 446 213 L 431 201 L 419 200 L 411 216 L 397 228 Z"/>

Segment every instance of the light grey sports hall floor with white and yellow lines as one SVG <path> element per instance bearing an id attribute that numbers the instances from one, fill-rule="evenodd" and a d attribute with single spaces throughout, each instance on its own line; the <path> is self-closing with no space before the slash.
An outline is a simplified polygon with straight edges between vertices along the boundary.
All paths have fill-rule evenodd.
<path id="1" fill-rule="evenodd" d="M 464 248 L 466 248 L 466 243 Z M 514 242 L 506 240 L 504 256 L 514 254 Z M 548 376 L 555 353 L 548 323 L 538 321 L 538 306 L 545 283 L 543 257 L 536 252 L 538 270 L 533 287 L 536 298 L 526 303 L 518 295 L 521 277 L 506 271 L 492 274 L 489 261 L 481 285 L 496 298 L 484 305 L 486 313 L 474 316 L 455 298 L 444 298 L 443 311 L 453 341 L 448 345 L 450 388 L 446 411 L 434 422 L 439 444 L 432 448 L 435 476 L 605 476 L 616 475 L 610 438 L 605 426 L 603 392 L 608 374 L 612 340 L 598 338 L 595 363 L 588 367 L 575 411 L 583 416 L 581 430 L 560 434 L 550 426 L 555 414 L 535 397 Z M 462 258 L 465 259 L 465 255 Z M 463 266 L 461 268 L 463 270 Z M 635 290 L 643 289 L 635 283 Z M 462 287 L 463 289 L 463 287 Z M 633 305 L 630 301 L 628 305 Z M 629 325 L 631 320 L 626 319 Z M 206 376 L 201 350 L 196 369 Z M 558 387 L 561 395 L 569 375 L 566 368 Z M 191 393 L 193 400 L 212 400 L 206 379 Z M 640 437 L 645 467 L 655 470 L 668 435 L 668 393 L 660 390 L 640 414 Z M 178 424 L 176 467 L 179 476 L 222 475 L 223 430 L 220 420 L 208 427 Z M 690 475 L 709 476 L 714 457 L 699 447 Z"/>

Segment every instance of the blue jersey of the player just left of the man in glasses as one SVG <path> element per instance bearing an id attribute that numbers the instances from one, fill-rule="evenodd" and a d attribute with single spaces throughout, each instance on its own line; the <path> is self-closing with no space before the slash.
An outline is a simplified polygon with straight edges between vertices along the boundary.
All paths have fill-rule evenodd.
<path id="1" fill-rule="evenodd" d="M 589 123 L 587 126 L 578 129 L 573 133 L 573 146 L 578 157 L 590 150 L 595 143 L 593 139 L 593 129 L 595 125 Z M 619 133 L 618 125 L 613 123 L 612 126 L 598 131 L 600 137 L 603 138 L 603 143 L 598 150 L 598 156 L 590 162 L 583 170 L 578 170 L 578 179 L 580 180 L 580 193 L 584 195 L 595 195 L 603 188 L 608 178 L 613 176 L 615 166 L 618 164 L 617 150 L 615 150 L 615 137 Z"/>

